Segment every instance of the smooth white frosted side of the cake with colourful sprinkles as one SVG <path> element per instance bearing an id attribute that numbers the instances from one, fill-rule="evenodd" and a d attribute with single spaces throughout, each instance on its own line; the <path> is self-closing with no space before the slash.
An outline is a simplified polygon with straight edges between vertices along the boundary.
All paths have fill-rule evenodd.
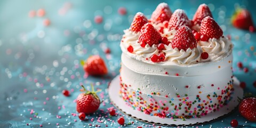
<path id="1" fill-rule="evenodd" d="M 228 63 L 231 58 L 230 55 L 223 61 Z M 124 54 L 123 59 L 127 59 Z M 231 99 L 231 63 L 222 70 L 197 76 L 142 74 L 126 65 L 122 63 L 120 93 L 128 106 L 146 114 L 172 118 L 199 117 L 218 110 Z"/>

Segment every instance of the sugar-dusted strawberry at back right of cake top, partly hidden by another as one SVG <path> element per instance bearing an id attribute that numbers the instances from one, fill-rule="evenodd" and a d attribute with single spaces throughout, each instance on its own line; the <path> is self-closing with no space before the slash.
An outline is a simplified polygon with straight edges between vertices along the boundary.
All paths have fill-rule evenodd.
<path id="1" fill-rule="evenodd" d="M 196 13 L 192 21 L 194 22 L 194 25 L 201 25 L 201 21 L 207 16 L 212 18 L 212 13 L 210 9 L 206 4 L 201 4 L 196 10 Z"/>

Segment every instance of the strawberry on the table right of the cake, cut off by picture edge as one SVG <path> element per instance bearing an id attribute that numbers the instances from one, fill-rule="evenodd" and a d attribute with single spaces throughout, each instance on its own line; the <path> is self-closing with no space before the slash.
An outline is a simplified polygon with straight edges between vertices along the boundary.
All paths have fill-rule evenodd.
<path id="1" fill-rule="evenodd" d="M 251 122 L 256 122 L 256 98 L 243 99 L 239 104 L 239 113 Z"/>

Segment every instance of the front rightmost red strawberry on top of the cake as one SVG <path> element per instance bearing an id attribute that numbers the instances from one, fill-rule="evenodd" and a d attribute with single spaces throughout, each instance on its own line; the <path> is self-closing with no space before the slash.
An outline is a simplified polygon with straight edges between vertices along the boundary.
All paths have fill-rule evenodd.
<path id="1" fill-rule="evenodd" d="M 220 38 L 223 35 L 223 31 L 211 17 L 205 17 L 202 20 L 201 28 L 200 28 L 201 36 L 206 36 L 209 38 Z M 207 39 L 207 40 L 208 40 Z"/>

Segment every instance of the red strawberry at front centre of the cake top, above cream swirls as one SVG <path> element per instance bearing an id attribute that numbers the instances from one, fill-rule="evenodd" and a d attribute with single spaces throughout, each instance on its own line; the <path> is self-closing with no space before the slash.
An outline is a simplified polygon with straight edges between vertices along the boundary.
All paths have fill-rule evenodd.
<path id="1" fill-rule="evenodd" d="M 194 49 L 196 46 L 197 42 L 191 29 L 188 26 L 179 27 L 172 39 L 172 48 L 177 47 L 179 50 L 186 51 L 188 48 Z"/>

